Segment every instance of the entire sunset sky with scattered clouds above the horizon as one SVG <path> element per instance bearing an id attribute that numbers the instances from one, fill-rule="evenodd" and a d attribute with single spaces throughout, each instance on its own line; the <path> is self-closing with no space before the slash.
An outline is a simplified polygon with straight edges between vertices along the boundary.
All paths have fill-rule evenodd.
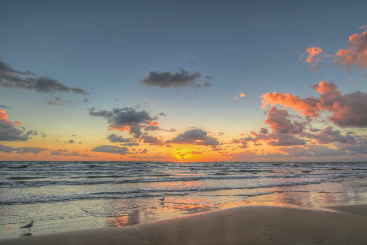
<path id="1" fill-rule="evenodd" d="M 3 161 L 367 161 L 366 1 L 7 1 Z"/>

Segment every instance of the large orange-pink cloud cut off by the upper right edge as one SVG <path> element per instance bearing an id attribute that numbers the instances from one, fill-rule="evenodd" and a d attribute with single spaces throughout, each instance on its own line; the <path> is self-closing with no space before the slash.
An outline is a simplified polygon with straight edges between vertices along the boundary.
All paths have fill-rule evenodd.
<path id="1" fill-rule="evenodd" d="M 361 26 L 359 29 L 364 29 Z M 350 69 L 356 65 L 361 70 L 367 69 L 367 31 L 362 34 L 355 33 L 349 36 L 346 49 L 340 49 L 334 56 L 334 65 L 341 65 L 343 68 Z"/>

